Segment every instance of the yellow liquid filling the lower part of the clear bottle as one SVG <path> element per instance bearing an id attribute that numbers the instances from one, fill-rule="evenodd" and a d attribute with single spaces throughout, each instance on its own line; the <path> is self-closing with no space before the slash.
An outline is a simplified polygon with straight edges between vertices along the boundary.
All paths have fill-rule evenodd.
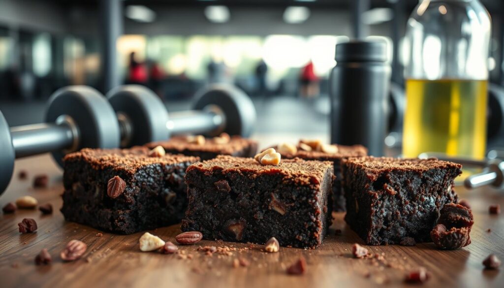
<path id="1" fill-rule="evenodd" d="M 406 80 L 403 155 L 483 158 L 486 103 L 486 80 Z"/>

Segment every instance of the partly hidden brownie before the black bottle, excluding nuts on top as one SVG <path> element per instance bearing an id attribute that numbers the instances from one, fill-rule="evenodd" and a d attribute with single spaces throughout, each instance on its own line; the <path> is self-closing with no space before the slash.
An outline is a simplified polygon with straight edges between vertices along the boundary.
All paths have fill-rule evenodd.
<path id="1" fill-rule="evenodd" d="M 334 144 L 338 147 L 338 152 L 336 153 L 327 153 L 322 151 L 305 151 L 301 149 L 299 144 L 296 146 L 296 153 L 286 153 L 282 151 L 277 151 L 282 155 L 282 158 L 292 159 L 295 157 L 304 159 L 304 160 L 320 160 L 320 161 L 332 161 L 334 164 L 334 175 L 336 178 L 333 182 L 333 210 L 337 212 L 346 211 L 345 208 L 345 196 L 343 191 L 341 191 L 341 168 L 340 163 L 341 159 L 348 157 L 357 157 L 357 156 L 366 156 L 367 149 L 362 145 L 353 145 L 353 146 L 344 146 Z M 277 146 L 273 146 L 273 148 L 277 149 Z"/>

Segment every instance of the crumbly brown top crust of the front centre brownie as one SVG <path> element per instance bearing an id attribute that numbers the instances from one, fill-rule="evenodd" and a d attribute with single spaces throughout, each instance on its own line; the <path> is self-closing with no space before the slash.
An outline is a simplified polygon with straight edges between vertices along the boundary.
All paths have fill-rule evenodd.
<path id="1" fill-rule="evenodd" d="M 221 170 L 222 174 L 229 172 L 250 172 L 255 175 L 283 174 L 296 183 L 321 183 L 328 169 L 333 163 L 329 161 L 311 161 L 300 158 L 282 159 L 278 165 L 263 165 L 254 158 L 241 158 L 229 155 L 219 155 L 212 160 L 194 163 L 187 168 L 201 171 Z"/>

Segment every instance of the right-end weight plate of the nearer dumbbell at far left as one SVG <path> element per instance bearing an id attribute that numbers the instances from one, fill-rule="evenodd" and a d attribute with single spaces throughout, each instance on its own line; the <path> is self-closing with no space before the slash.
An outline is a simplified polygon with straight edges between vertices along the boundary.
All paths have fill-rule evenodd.
<path id="1" fill-rule="evenodd" d="M 87 86 L 69 86 L 54 92 L 49 99 L 45 121 L 54 123 L 61 116 L 70 117 L 78 129 L 78 145 L 82 148 L 117 148 L 120 131 L 117 117 L 107 99 L 97 90 Z M 66 152 L 52 153 L 62 166 Z"/>

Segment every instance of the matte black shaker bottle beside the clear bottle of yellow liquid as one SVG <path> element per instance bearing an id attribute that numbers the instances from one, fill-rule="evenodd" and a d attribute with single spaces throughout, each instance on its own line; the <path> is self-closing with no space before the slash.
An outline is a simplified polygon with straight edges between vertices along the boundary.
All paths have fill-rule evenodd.
<path id="1" fill-rule="evenodd" d="M 351 41 L 336 45 L 330 76 L 331 143 L 361 144 L 382 156 L 388 127 L 390 66 L 387 44 Z"/>

